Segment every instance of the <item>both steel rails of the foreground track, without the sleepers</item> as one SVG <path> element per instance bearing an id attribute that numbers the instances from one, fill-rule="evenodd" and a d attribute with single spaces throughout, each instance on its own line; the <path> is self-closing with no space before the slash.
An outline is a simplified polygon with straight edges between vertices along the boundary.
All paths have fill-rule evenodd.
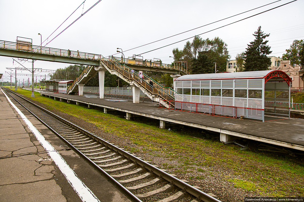
<path id="1" fill-rule="evenodd" d="M 9 89 L 7 89 L 9 90 Z M 9 90 L 10 91 L 10 90 Z M 19 96 L 18 94 L 16 94 L 15 92 L 11 91 L 13 94 L 17 95 L 18 97 L 22 98 L 21 96 Z M 126 157 L 127 159 L 135 162 L 136 164 L 139 164 L 141 167 L 146 168 L 149 171 L 152 171 L 154 174 L 157 174 L 158 176 L 164 178 L 165 180 L 173 183 L 174 185 L 176 185 L 177 187 L 187 191 L 189 194 L 192 194 L 193 196 L 197 197 L 199 200 L 205 201 L 205 202 L 221 202 L 220 200 L 206 194 L 205 192 L 185 183 L 184 181 L 166 173 L 165 171 L 162 171 L 161 169 L 147 163 L 146 161 L 124 151 L 123 149 L 109 143 L 108 141 L 105 141 L 104 139 L 95 136 L 94 134 L 86 131 L 85 129 L 78 127 L 77 125 L 65 120 L 64 118 L 59 117 L 57 114 L 54 114 L 50 111 L 48 111 L 47 109 L 44 109 L 42 107 L 40 107 L 39 105 L 26 100 L 25 98 L 22 98 L 25 101 L 29 102 L 30 104 L 33 104 L 35 107 L 39 108 L 42 111 L 45 111 L 46 113 L 54 116 L 55 118 L 59 119 L 60 121 L 63 121 L 64 123 L 70 125 L 71 127 L 75 128 L 78 131 L 81 131 L 83 133 L 85 133 L 86 135 L 88 135 L 89 137 L 91 137 L 92 139 L 99 141 L 100 143 L 106 145 L 107 147 L 111 148 L 112 150 L 116 151 L 117 153 L 123 155 L 124 157 Z M 18 102 L 19 103 L 19 102 Z M 23 105 L 22 105 L 23 106 Z M 27 109 L 27 108 L 26 108 Z M 27 109 L 28 110 L 28 109 Z M 29 111 L 29 110 L 28 110 Z M 31 111 L 29 111 L 30 113 L 32 113 Z M 33 113 L 32 113 L 33 114 Z M 33 114 L 35 117 L 36 115 Z M 38 117 L 36 117 L 38 118 Z M 39 119 L 39 118 L 38 118 Z M 40 119 L 39 119 L 40 120 Z M 40 120 L 41 121 L 41 120 Z M 43 124 L 45 124 L 43 121 L 41 121 Z M 48 128 L 50 128 L 47 124 L 45 124 Z M 51 129 L 51 128 L 50 128 Z M 82 154 L 77 148 L 75 148 L 73 145 L 71 145 L 69 142 L 67 142 L 64 137 L 62 137 L 61 135 L 59 135 L 56 131 L 54 131 L 53 129 L 51 129 L 61 140 L 64 141 L 64 143 L 67 143 L 68 146 L 73 149 L 73 151 L 75 151 L 75 153 L 77 153 L 78 155 L 80 155 L 81 157 L 84 156 L 84 154 Z M 86 162 L 88 162 L 99 174 L 101 174 L 103 177 L 105 177 L 111 184 L 113 184 L 119 191 L 122 191 L 124 194 L 126 194 L 126 196 L 130 196 L 132 197 L 131 199 L 134 199 L 133 201 L 141 201 L 140 199 L 138 199 L 134 194 L 132 194 L 129 190 L 126 190 L 125 187 L 123 187 L 123 185 L 121 185 L 119 182 L 117 182 L 117 180 L 115 180 L 112 176 L 110 176 L 108 173 L 106 173 L 105 171 L 103 171 L 97 164 L 95 164 L 93 161 L 91 161 L 88 157 L 84 156 L 83 157 L 85 159 Z"/>

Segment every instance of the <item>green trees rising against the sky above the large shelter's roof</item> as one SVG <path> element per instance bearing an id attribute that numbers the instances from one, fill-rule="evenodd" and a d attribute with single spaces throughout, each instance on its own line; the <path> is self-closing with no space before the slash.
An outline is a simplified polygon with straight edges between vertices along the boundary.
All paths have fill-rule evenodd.
<path id="1" fill-rule="evenodd" d="M 266 38 L 270 34 L 265 34 L 261 26 L 254 32 L 254 41 L 247 44 L 246 51 L 237 54 L 237 71 L 262 71 L 268 70 L 271 59 L 267 55 L 271 54 L 270 46 L 267 45 Z M 282 60 L 290 60 L 292 65 L 304 64 L 304 42 L 294 40 L 290 49 L 282 56 Z M 209 74 L 226 71 L 227 61 L 230 55 L 227 51 L 227 44 L 215 37 L 214 39 L 202 39 L 195 36 L 193 41 L 187 41 L 182 50 L 174 48 L 172 50 L 174 61 L 186 61 L 191 74 Z M 216 63 L 216 70 L 215 70 Z"/>

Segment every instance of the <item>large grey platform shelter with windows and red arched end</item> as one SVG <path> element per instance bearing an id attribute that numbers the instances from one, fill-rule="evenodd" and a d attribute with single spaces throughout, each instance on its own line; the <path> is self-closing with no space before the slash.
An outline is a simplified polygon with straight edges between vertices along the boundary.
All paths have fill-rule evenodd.
<path id="1" fill-rule="evenodd" d="M 283 71 L 183 75 L 176 82 L 175 108 L 265 121 L 290 118 L 291 78 Z"/>

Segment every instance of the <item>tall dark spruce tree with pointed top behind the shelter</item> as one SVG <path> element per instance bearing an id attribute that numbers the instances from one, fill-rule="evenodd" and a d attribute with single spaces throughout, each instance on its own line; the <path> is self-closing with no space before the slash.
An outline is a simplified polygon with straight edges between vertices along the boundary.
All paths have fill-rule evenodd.
<path id="1" fill-rule="evenodd" d="M 266 45 L 268 40 L 264 39 L 270 34 L 264 34 L 261 31 L 261 26 L 253 34 L 255 36 L 254 41 L 250 42 L 248 48 L 245 51 L 245 71 L 262 71 L 268 70 L 271 65 L 270 58 L 267 57 L 272 51 L 270 46 Z"/>

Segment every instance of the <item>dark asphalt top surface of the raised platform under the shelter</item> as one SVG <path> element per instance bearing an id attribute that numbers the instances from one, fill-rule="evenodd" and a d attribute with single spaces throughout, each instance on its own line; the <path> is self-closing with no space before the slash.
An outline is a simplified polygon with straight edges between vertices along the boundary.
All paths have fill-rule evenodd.
<path id="1" fill-rule="evenodd" d="M 79 95 L 57 94 L 42 92 L 43 94 L 55 96 L 57 98 L 79 101 L 85 104 L 118 109 L 119 111 L 131 112 L 134 114 L 145 114 L 151 118 L 168 120 L 168 122 L 178 121 L 181 123 L 195 124 L 210 128 L 212 131 L 230 131 L 259 138 L 275 141 L 282 141 L 289 144 L 304 146 L 304 119 L 297 118 L 266 118 L 271 121 L 255 121 L 249 119 L 236 119 L 229 117 L 210 116 L 209 114 L 192 113 L 188 111 L 177 111 L 160 108 L 155 103 L 140 102 L 134 104 L 132 101 L 112 102 L 109 98 L 86 98 Z M 170 121 L 171 120 L 171 121 Z"/>

